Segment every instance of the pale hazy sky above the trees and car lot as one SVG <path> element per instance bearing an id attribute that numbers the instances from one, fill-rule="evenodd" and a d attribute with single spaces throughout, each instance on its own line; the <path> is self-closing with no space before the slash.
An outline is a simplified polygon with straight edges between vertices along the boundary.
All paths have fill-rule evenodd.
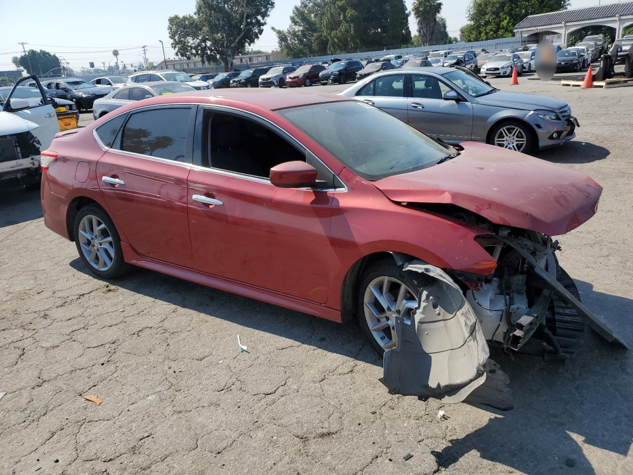
<path id="1" fill-rule="evenodd" d="M 405 0 L 410 9 L 413 0 Z M 610 0 L 608 0 L 610 1 Z M 608 3 L 603 1 L 603 3 Z M 292 7 L 299 0 L 276 0 L 275 8 L 268 17 L 268 24 L 258 41 L 251 47 L 270 51 L 277 47 L 277 37 L 270 29 L 286 28 Z M 467 22 L 466 9 L 470 0 L 444 0 L 442 16 L 446 18 L 451 36 L 458 36 L 460 27 Z M 19 56 L 22 46 L 27 49 L 46 49 L 65 58 L 70 67 L 78 70 L 93 61 L 96 67 L 102 63 L 115 64 L 112 49 L 120 52 L 120 63 L 137 64 L 142 61 L 142 48 L 147 46 L 147 60 L 158 63 L 163 59 L 159 40 L 165 42 L 165 55 L 174 58 L 167 34 L 167 18 L 172 15 L 193 13 L 196 0 L 153 0 L 151 4 L 137 0 L 108 0 L 106 3 L 82 4 L 78 15 L 34 15 L 34 11 L 49 10 L 49 1 L 29 2 L 0 0 L 3 22 L 0 27 L 0 70 L 13 70 L 13 56 Z M 572 0 L 570 8 L 598 4 L 598 0 Z M 68 13 L 73 11 L 67 5 Z M 94 13 L 92 9 L 94 8 Z M 94 18 L 93 18 L 94 16 Z M 20 21 L 19 19 L 28 21 Z M 9 21 L 7 21 L 9 20 Z M 15 20 L 15 21 L 14 21 Z M 59 22 L 59 24 L 57 24 Z M 410 16 L 411 33 L 415 33 L 415 18 Z"/>

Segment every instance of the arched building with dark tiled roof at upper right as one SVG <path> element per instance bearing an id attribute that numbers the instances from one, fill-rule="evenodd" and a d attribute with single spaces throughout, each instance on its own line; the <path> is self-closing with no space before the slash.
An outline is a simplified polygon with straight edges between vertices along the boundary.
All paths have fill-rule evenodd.
<path id="1" fill-rule="evenodd" d="M 606 31 L 617 39 L 632 25 L 633 1 L 629 1 L 529 15 L 517 23 L 514 32 L 522 41 L 537 43 L 551 39 L 555 43 L 567 43 L 572 36 L 582 39 Z"/>

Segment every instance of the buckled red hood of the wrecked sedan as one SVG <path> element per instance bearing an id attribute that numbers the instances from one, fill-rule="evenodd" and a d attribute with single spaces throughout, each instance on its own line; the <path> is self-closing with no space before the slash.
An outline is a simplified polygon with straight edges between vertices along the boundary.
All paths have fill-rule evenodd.
<path id="1" fill-rule="evenodd" d="M 456 205 L 494 224 L 549 236 L 596 213 L 602 187 L 587 175 L 496 146 L 461 146 L 448 162 L 373 184 L 392 201 Z"/>

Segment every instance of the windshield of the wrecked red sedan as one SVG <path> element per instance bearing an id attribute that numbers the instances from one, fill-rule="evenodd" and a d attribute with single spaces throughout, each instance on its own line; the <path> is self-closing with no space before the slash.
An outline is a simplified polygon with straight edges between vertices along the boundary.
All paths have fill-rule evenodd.
<path id="1" fill-rule="evenodd" d="M 334 155 L 342 165 L 368 180 L 435 165 L 457 155 L 378 108 L 341 101 L 277 111 Z"/>

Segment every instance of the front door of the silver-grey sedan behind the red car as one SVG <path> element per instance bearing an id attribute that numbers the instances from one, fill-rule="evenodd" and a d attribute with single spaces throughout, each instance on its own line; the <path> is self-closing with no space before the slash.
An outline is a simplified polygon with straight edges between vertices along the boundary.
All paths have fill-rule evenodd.
<path id="1" fill-rule="evenodd" d="M 468 101 L 444 100 L 444 94 L 448 91 L 453 89 L 434 76 L 411 74 L 409 124 L 448 143 L 470 140 L 472 104 Z"/>

